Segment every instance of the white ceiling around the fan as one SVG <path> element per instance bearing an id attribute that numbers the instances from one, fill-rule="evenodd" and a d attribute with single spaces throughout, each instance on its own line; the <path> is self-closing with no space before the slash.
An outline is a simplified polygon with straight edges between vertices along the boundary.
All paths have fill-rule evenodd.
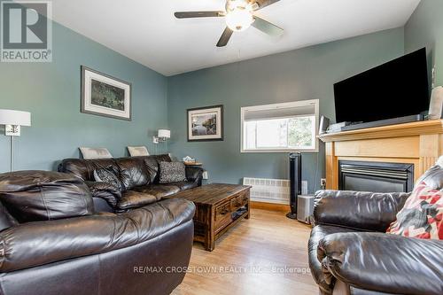
<path id="1" fill-rule="evenodd" d="M 223 18 L 175 19 L 176 11 L 224 10 L 224 0 L 53 0 L 58 23 L 173 75 L 402 27 L 420 0 L 281 0 L 257 13 L 284 28 L 275 39 L 250 27 L 217 48 Z"/>

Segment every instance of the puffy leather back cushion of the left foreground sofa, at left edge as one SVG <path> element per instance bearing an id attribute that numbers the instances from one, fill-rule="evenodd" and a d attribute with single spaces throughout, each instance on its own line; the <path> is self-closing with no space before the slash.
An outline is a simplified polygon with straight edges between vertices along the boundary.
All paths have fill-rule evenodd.
<path id="1" fill-rule="evenodd" d="M 79 178 L 47 171 L 0 175 L 0 200 L 20 223 L 90 215 L 94 205 Z"/>

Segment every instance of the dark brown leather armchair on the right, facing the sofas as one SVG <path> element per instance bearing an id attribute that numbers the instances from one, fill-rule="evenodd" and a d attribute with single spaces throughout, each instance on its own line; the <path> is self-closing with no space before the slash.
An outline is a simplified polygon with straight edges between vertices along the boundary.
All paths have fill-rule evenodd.
<path id="1" fill-rule="evenodd" d="M 443 168 L 419 182 L 441 190 Z M 408 196 L 317 191 L 308 252 L 321 294 L 443 294 L 443 241 L 385 234 Z"/>

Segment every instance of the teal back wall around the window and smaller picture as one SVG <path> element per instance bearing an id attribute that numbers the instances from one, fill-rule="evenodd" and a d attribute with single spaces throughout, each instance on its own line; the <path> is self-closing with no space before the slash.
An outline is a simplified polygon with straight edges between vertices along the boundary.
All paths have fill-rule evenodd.
<path id="1" fill-rule="evenodd" d="M 168 79 L 170 151 L 204 162 L 210 182 L 243 177 L 288 178 L 286 153 L 240 153 L 240 107 L 320 99 L 320 113 L 334 119 L 333 84 L 404 53 L 403 28 L 292 50 Z M 356 98 L 358 99 L 358 95 Z M 186 109 L 224 105 L 222 142 L 188 143 Z M 303 155 L 308 190 L 324 176 L 324 146 Z"/>

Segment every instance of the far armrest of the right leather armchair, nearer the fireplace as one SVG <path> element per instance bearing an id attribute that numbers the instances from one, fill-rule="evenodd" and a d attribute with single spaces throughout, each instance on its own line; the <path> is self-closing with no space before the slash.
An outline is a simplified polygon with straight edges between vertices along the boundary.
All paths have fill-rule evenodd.
<path id="1" fill-rule="evenodd" d="M 315 193 L 315 224 L 381 231 L 389 227 L 410 193 L 375 193 L 349 190 L 318 190 Z"/>

